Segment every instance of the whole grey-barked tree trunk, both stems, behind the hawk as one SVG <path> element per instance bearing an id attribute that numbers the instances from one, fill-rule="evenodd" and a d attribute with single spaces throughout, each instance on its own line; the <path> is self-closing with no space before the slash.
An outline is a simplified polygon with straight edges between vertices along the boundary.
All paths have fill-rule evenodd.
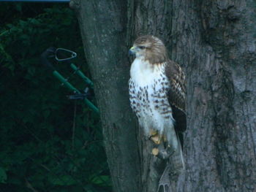
<path id="1" fill-rule="evenodd" d="M 156 191 L 163 169 L 129 109 L 127 50 L 141 34 L 162 39 L 187 74 L 186 172 L 175 191 L 256 191 L 255 1 L 70 5 L 101 110 L 113 191 Z"/>

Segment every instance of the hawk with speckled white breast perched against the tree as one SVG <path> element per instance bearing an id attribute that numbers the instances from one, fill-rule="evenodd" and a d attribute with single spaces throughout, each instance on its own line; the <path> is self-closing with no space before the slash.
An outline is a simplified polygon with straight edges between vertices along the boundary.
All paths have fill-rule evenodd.
<path id="1" fill-rule="evenodd" d="M 140 127 L 155 144 L 164 141 L 180 150 L 184 166 L 180 143 L 180 132 L 187 126 L 184 72 L 168 58 L 163 42 L 151 35 L 138 37 L 129 54 L 135 55 L 130 69 L 129 100 Z"/>

